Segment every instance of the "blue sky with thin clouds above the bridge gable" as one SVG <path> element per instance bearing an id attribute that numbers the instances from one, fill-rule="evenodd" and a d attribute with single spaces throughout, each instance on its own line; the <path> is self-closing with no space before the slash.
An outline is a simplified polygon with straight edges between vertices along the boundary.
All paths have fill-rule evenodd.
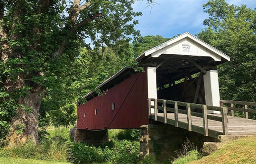
<path id="1" fill-rule="evenodd" d="M 162 35 L 165 38 L 189 32 L 196 34 L 204 28 L 203 20 L 208 14 L 203 12 L 202 4 L 208 0 L 156 0 L 152 8 L 146 7 L 146 0 L 136 1 L 135 11 L 141 11 L 136 26 L 142 36 Z M 226 0 L 229 4 L 256 8 L 256 0 Z"/>

